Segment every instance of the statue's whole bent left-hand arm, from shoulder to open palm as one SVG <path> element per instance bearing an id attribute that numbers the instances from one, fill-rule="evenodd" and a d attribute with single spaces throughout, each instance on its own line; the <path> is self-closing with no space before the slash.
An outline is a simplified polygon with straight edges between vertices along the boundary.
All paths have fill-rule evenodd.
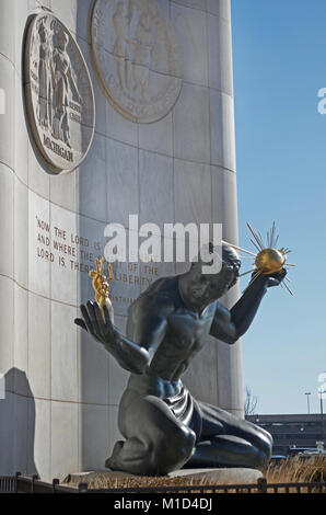
<path id="1" fill-rule="evenodd" d="M 166 332 L 166 318 L 152 313 L 139 320 L 140 343 L 126 337 L 109 318 L 107 307 L 103 307 L 104 319 L 97 302 L 89 301 L 81 306 L 83 318 L 74 323 L 88 331 L 97 342 L 102 343 L 118 364 L 132 374 L 143 374 L 151 362 L 153 350 L 158 348 Z"/>

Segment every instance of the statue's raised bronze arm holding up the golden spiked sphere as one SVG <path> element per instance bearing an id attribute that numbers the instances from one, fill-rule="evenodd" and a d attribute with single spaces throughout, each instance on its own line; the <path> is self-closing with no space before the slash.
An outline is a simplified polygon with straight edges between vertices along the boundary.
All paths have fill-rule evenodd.
<path id="1" fill-rule="evenodd" d="M 210 334 L 225 343 L 235 343 L 251 327 L 267 288 L 279 285 L 286 275 L 286 270 L 270 276 L 261 274 L 252 279 L 231 310 L 218 305 Z"/>

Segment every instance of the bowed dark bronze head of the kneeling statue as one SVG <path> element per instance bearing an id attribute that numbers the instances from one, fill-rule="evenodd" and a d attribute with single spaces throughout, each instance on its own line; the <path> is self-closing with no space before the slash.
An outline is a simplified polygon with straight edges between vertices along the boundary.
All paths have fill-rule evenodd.
<path id="1" fill-rule="evenodd" d="M 209 245 L 209 253 L 213 254 L 213 247 Z M 202 272 L 205 265 L 198 258 L 197 262 L 191 264 L 188 272 L 187 297 L 194 305 L 210 304 L 222 297 L 237 282 L 241 261 L 234 249 L 231 247 L 222 247 L 222 258 L 218 256 L 221 262 L 221 268 L 218 273 L 205 274 Z"/>

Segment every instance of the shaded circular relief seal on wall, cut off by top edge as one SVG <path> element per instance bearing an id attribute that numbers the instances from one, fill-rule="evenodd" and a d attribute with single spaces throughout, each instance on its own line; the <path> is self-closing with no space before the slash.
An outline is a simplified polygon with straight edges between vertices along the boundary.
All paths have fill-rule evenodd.
<path id="1" fill-rule="evenodd" d="M 165 116 L 181 92 L 183 59 L 155 0 L 96 0 L 91 31 L 95 66 L 113 106 L 132 122 Z"/>

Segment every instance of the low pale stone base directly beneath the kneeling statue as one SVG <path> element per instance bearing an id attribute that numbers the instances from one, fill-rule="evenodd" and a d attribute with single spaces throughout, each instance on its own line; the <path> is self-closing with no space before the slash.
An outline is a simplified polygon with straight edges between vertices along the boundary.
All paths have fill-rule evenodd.
<path id="1" fill-rule="evenodd" d="M 100 479 L 120 479 L 120 478 L 136 478 L 137 476 L 128 472 L 119 472 L 115 470 L 97 470 L 89 472 L 70 473 L 63 482 L 73 483 L 88 483 Z M 162 478 L 162 476 L 161 476 Z M 213 482 L 214 484 L 253 484 L 263 473 L 256 469 L 232 468 L 232 469 L 183 469 L 168 473 L 165 478 L 186 478 L 195 479 L 198 482 L 202 480 Z"/>

